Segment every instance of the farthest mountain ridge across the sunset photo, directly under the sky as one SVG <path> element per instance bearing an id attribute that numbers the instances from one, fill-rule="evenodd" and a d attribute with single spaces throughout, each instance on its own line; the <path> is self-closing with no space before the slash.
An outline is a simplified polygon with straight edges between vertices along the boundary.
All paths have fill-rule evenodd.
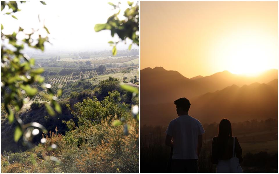
<path id="1" fill-rule="evenodd" d="M 168 71 L 163 67 L 145 68 L 140 70 L 141 102 L 158 104 L 172 102 L 180 97 L 193 99 L 233 84 L 243 86 L 255 82 L 267 83 L 273 79 L 278 79 L 278 70 L 271 69 L 255 77 L 223 71 L 206 77 L 196 76 L 189 79 L 177 71 Z"/>

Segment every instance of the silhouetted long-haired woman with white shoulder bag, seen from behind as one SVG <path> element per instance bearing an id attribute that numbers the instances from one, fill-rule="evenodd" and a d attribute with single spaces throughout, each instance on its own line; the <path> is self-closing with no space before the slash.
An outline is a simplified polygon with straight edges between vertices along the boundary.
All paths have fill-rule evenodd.
<path id="1" fill-rule="evenodd" d="M 233 152 L 234 139 L 235 153 Z M 240 164 L 243 161 L 242 149 L 237 137 L 232 137 L 232 125 L 228 119 L 221 120 L 218 137 L 213 138 L 211 148 L 211 163 L 217 164 L 217 173 L 237 173 L 233 172 L 235 167 L 232 169 L 232 158 L 235 154 Z M 241 167 L 238 166 L 238 172 L 241 171 Z"/>

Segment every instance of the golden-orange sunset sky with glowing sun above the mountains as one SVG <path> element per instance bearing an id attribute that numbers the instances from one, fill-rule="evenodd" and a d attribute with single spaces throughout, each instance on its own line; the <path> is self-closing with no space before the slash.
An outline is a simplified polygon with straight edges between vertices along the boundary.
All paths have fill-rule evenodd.
<path id="1" fill-rule="evenodd" d="M 276 1 L 140 3 L 140 69 L 185 77 L 278 69 Z"/>

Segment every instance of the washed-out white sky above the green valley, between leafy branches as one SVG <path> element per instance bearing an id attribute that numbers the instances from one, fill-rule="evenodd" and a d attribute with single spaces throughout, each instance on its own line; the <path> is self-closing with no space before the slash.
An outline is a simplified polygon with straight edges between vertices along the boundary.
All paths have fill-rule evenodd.
<path id="1" fill-rule="evenodd" d="M 110 2 L 117 4 L 118 1 Z M 7 9 L 1 12 L 3 32 L 12 33 L 17 31 L 19 26 L 26 29 L 26 32 L 29 29 L 30 32 L 31 28 L 42 28 L 45 20 L 45 26 L 49 29 L 49 38 L 53 44 L 46 45 L 46 52 L 51 50 L 111 50 L 112 47 L 108 41 L 118 41 L 117 34 L 112 38 L 110 30 L 94 31 L 95 24 L 106 23 L 108 17 L 116 12 L 108 1 L 46 1 L 46 3 L 47 5 L 42 5 L 39 1 L 19 3 L 19 9 L 22 11 L 15 13 L 18 20 L 9 15 L 3 15 L 3 12 L 8 10 L 6 7 Z M 127 1 L 122 2 L 120 7 L 119 18 L 128 8 Z M 40 14 L 41 23 L 39 23 L 38 14 Z M 40 33 L 46 34 L 44 30 Z M 127 49 L 130 43 L 130 41 L 126 45 L 119 43 L 117 48 Z M 138 49 L 138 46 L 133 45 L 132 48 Z"/>

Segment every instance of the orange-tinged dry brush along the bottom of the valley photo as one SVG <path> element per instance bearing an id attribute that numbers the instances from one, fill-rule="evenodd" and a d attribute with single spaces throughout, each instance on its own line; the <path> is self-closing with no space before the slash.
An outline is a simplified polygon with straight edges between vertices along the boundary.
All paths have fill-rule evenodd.
<path id="1" fill-rule="evenodd" d="M 25 152 L 1 155 L 3 173 L 138 173 L 139 131 L 135 119 L 124 128 L 112 126 L 115 118 L 66 132 L 50 132 L 45 142 Z M 57 144 L 55 150 L 49 146 Z M 45 156 L 45 157 L 44 157 Z M 59 161 L 59 162 L 58 162 Z"/>

